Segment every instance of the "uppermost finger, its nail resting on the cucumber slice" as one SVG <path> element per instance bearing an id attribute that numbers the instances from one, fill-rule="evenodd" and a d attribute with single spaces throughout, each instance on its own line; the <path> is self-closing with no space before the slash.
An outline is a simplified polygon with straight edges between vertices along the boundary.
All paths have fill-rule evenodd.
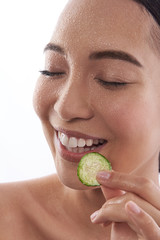
<path id="1" fill-rule="evenodd" d="M 156 208 L 160 208 L 160 188 L 148 178 L 115 171 L 102 171 L 97 174 L 97 181 L 107 188 L 136 193 Z"/>

